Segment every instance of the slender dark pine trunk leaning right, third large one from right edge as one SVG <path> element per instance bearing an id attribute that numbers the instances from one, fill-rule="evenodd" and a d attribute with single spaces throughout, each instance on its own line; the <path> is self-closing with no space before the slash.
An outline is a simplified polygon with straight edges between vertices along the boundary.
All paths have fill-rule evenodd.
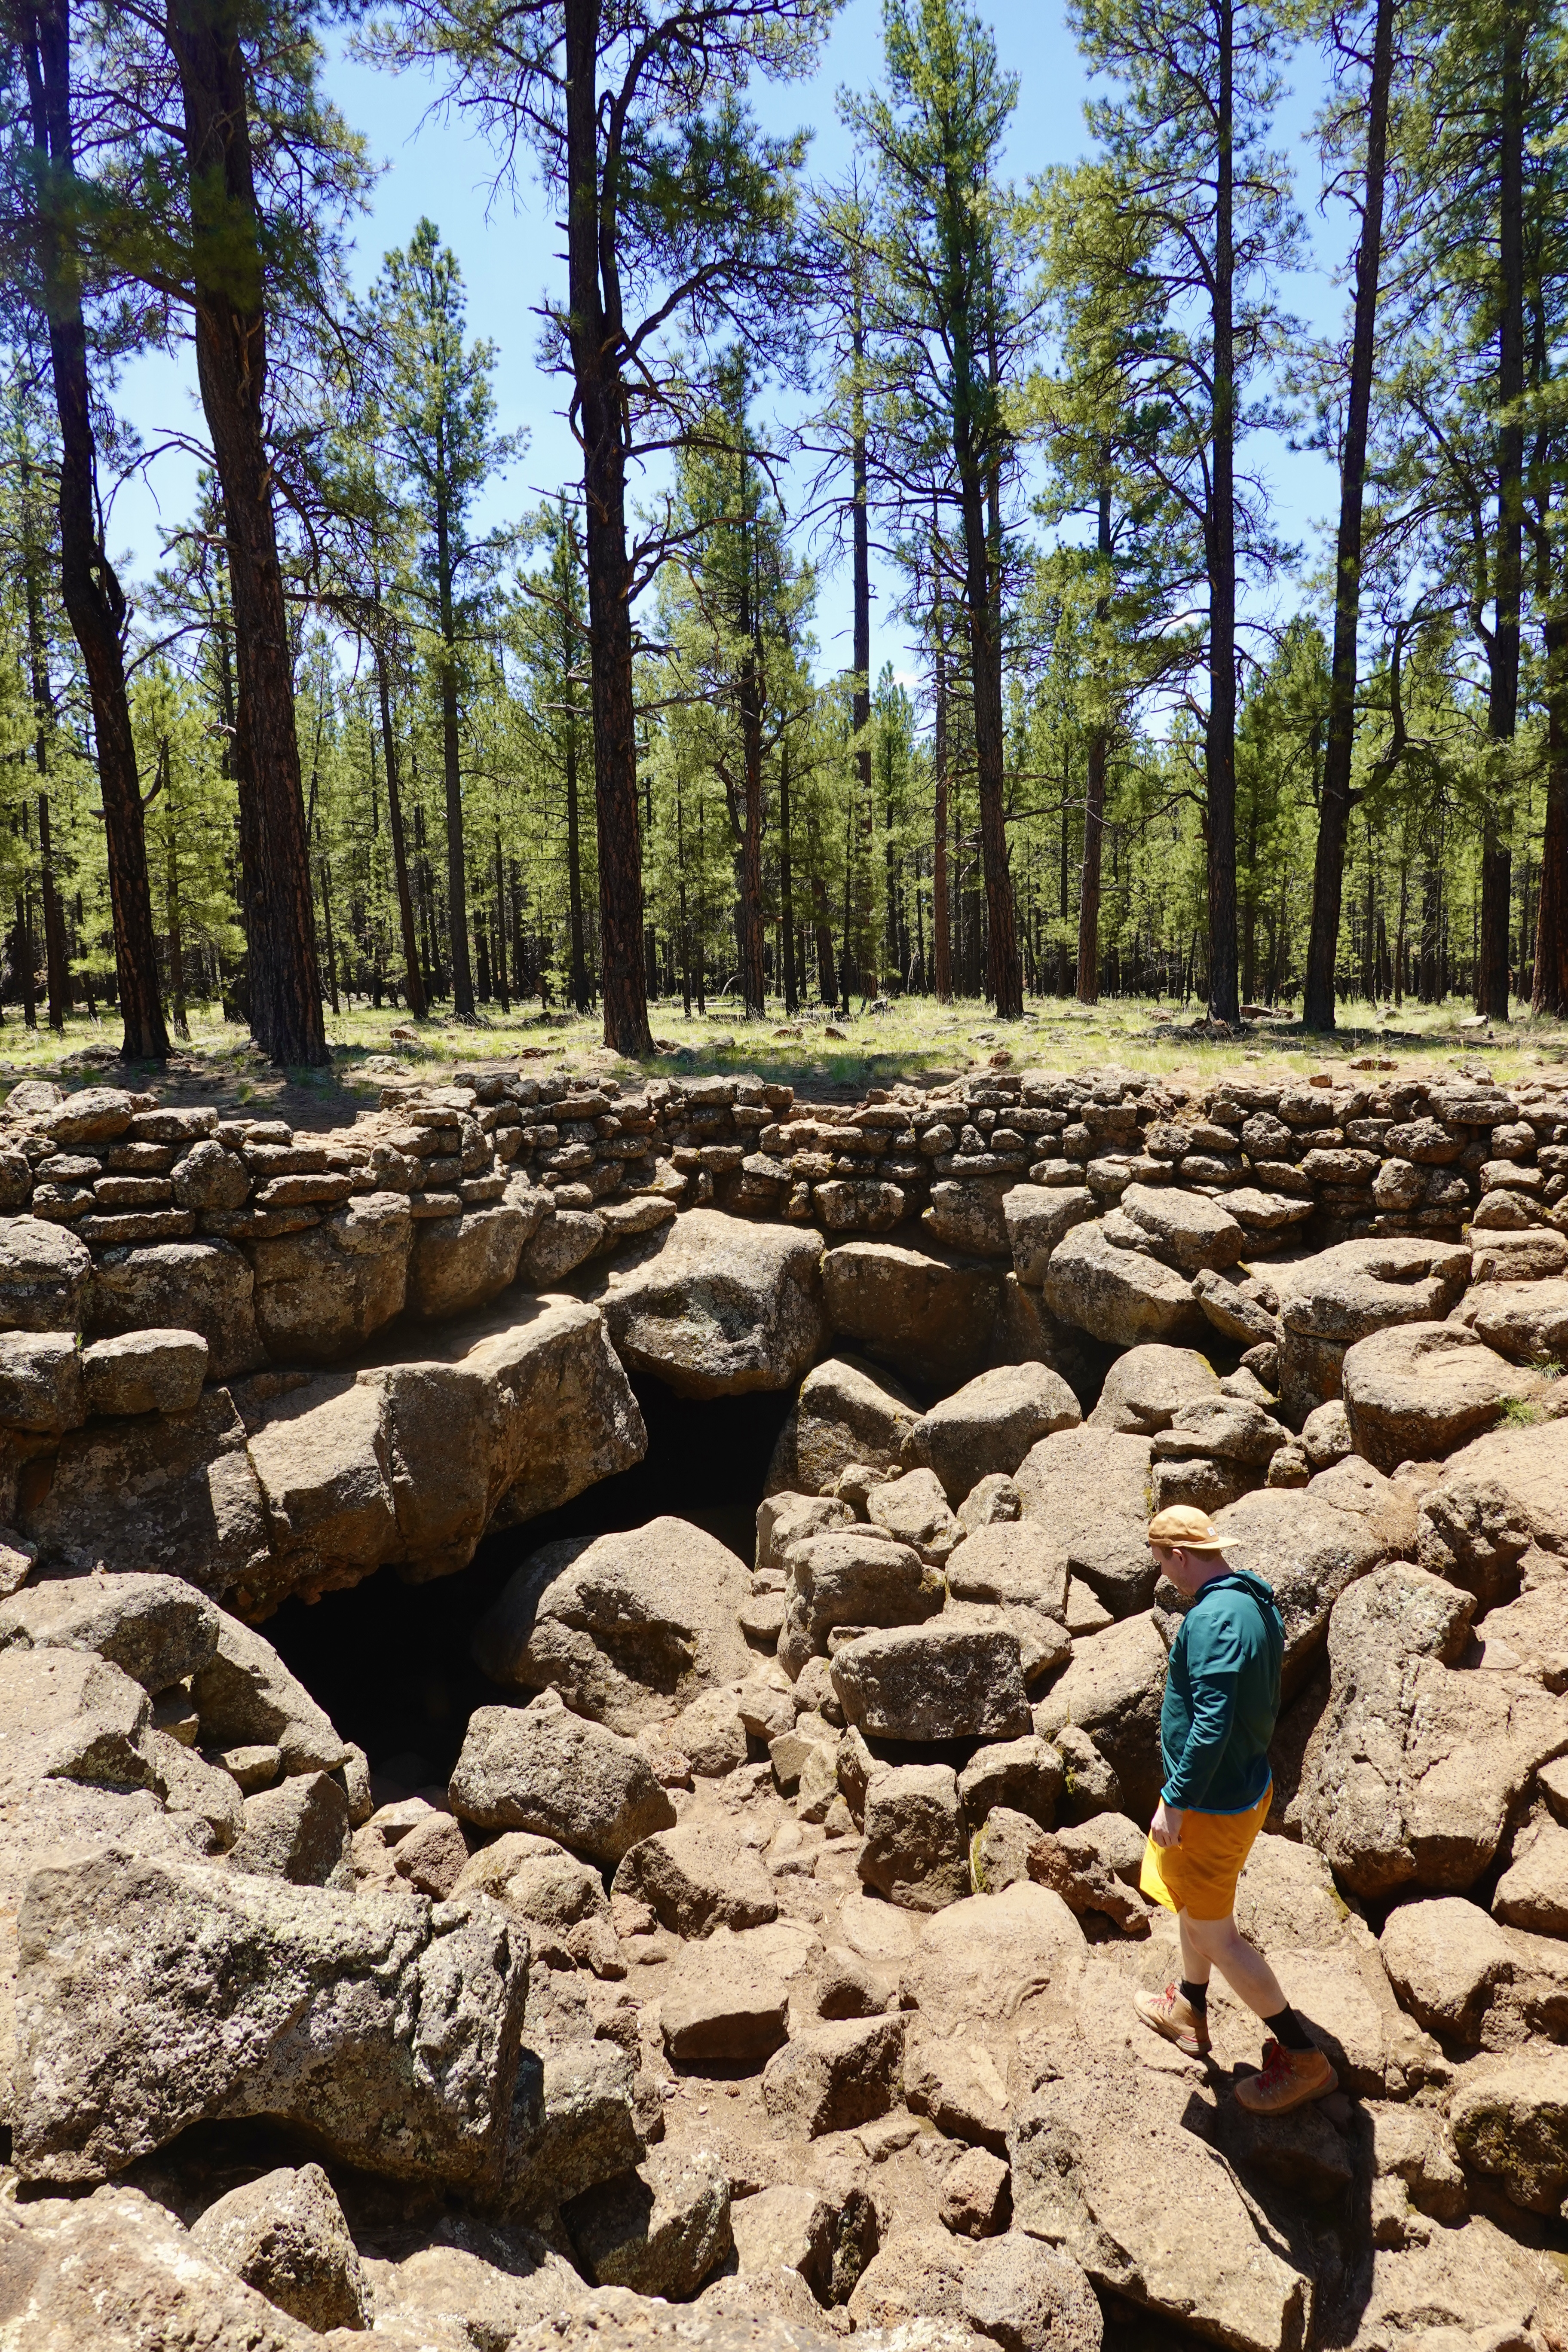
<path id="1" fill-rule="evenodd" d="M 1394 80 L 1394 0 L 1378 0 L 1373 21 L 1373 68 L 1366 89 L 1366 186 L 1361 240 L 1356 245 L 1356 310 L 1349 343 L 1349 400 L 1340 454 L 1340 532 L 1333 590 L 1333 670 L 1328 682 L 1328 739 L 1324 746 L 1324 793 L 1312 868 L 1312 934 L 1302 1023 L 1335 1025 L 1335 955 L 1345 894 L 1345 847 L 1349 840 L 1349 769 L 1356 748 L 1356 633 L 1361 623 L 1361 508 L 1366 489 L 1366 437 L 1373 414 L 1373 360 L 1378 341 L 1378 278 L 1382 270 L 1382 191 L 1389 146 L 1389 85 Z"/>

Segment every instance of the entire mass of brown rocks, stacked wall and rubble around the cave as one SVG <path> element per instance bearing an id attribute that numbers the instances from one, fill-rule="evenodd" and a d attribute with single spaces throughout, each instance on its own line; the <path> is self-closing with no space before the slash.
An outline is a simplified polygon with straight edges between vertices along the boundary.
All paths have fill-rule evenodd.
<path id="1" fill-rule="evenodd" d="M 1568 1103 L 715 1089 L 14 1091 L 0 2343 L 1556 2352 Z M 628 1374 L 792 1397 L 752 1557 L 520 1545 L 371 1771 L 254 1621 L 628 1468 Z M 1272 2124 L 1131 2011 L 1178 1501 L 1286 1623 Z"/>

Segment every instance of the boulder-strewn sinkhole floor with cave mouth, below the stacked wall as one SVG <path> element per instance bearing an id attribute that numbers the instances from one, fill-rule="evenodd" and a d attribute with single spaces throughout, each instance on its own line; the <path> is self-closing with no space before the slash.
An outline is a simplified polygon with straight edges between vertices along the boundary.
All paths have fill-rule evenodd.
<path id="1" fill-rule="evenodd" d="M 1568 2343 L 1568 1242 L 1138 1195 L 1016 1188 L 973 1329 L 693 1211 L 743 1303 L 611 1277 L 639 1458 L 456 1573 L 19 1581 L 16 2345 Z M 1239 1922 L 1342 2091 L 1272 2124 L 1218 1983 L 1211 2065 L 1131 2011 L 1171 1501 L 1286 1621 Z"/>

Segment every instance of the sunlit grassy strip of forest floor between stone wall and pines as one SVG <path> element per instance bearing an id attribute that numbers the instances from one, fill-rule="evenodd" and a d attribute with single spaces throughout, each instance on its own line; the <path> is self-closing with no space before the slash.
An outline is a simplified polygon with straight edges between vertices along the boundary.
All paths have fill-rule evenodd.
<path id="1" fill-rule="evenodd" d="M 806 1101 L 856 1101 L 870 1087 L 886 1087 L 898 1077 L 940 1084 L 987 1063 L 1016 1070 L 1121 1063 L 1175 1082 L 1213 1084 L 1227 1073 L 1302 1075 L 1361 1056 L 1413 1070 L 1474 1058 L 1500 1082 L 1568 1061 L 1568 1023 L 1535 1021 L 1523 1004 L 1514 1007 L 1505 1025 L 1476 1021 L 1460 997 L 1401 1007 L 1349 1002 L 1340 1007 L 1333 1037 L 1309 1037 L 1291 1016 L 1246 1021 L 1239 1035 L 1211 1037 L 1194 1028 L 1199 1014 L 1201 1007 L 1178 1009 L 1150 997 L 1105 997 L 1095 1007 L 1034 997 L 1013 1028 L 997 1021 L 983 1000 L 936 1004 L 929 997 L 905 997 L 886 1011 L 867 1007 L 846 1016 L 809 1007 L 788 1018 L 778 1007 L 766 1021 L 748 1023 L 733 1007 L 686 1018 L 679 1000 L 665 1000 L 651 1009 L 658 1058 L 637 1065 L 607 1051 L 597 1011 L 541 1014 L 534 1004 L 512 1014 L 484 1009 L 475 1025 L 465 1025 L 449 1016 L 411 1023 L 393 1007 L 374 1011 L 369 1004 L 353 1004 L 327 1018 L 331 1068 L 284 1073 L 273 1070 L 247 1033 L 209 1004 L 193 1007 L 190 1040 L 176 1044 L 160 1094 L 216 1101 L 226 1110 L 275 1108 L 296 1127 L 334 1127 L 371 1105 L 388 1082 L 447 1077 L 454 1068 L 494 1061 L 538 1068 L 541 1075 L 562 1068 L 623 1080 L 637 1068 L 649 1075 L 745 1070 L 790 1084 Z M 28 1030 L 19 1009 L 7 1007 L 0 1023 L 0 1087 L 19 1077 L 110 1080 L 125 1070 L 115 1061 L 118 1044 L 118 1023 L 108 1016 L 94 1023 L 73 1014 L 59 1040 L 42 1021 Z M 146 1070 L 141 1082 L 148 1084 L 150 1077 Z"/>

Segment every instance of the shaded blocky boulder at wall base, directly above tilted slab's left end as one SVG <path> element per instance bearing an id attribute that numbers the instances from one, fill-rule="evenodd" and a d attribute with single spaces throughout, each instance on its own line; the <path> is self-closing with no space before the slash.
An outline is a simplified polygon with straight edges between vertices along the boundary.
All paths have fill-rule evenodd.
<path id="1" fill-rule="evenodd" d="M 256 1329 L 284 1364 L 334 1364 L 402 1312 L 414 1218 L 402 1192 L 362 1192 L 320 1225 L 249 1244 Z"/>

